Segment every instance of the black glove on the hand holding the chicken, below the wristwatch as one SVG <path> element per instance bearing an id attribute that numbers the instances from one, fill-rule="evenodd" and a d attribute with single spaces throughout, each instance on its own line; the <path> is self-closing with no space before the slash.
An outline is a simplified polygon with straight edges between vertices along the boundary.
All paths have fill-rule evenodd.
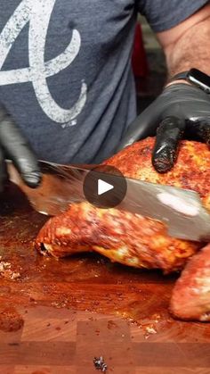
<path id="1" fill-rule="evenodd" d="M 210 145 L 210 96 L 184 83 L 166 87 L 129 126 L 117 151 L 155 135 L 152 163 L 158 172 L 166 172 L 174 166 L 182 137 Z"/>

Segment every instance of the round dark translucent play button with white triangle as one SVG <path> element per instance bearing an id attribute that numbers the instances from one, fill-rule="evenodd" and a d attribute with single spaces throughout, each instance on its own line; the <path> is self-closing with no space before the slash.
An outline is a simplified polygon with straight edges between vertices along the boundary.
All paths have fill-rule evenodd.
<path id="1" fill-rule="evenodd" d="M 86 175 L 83 189 L 89 203 L 99 208 L 114 208 L 125 197 L 126 179 L 117 168 L 100 165 Z"/>

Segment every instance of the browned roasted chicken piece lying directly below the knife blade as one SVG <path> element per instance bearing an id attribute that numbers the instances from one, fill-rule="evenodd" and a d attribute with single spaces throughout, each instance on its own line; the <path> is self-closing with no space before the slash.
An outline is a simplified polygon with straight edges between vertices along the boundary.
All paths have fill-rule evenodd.
<path id="1" fill-rule="evenodd" d="M 158 221 L 87 203 L 73 204 L 68 212 L 49 220 L 36 239 L 37 249 L 55 257 L 94 250 L 114 262 L 165 272 L 182 269 L 199 247 L 168 237 Z"/>

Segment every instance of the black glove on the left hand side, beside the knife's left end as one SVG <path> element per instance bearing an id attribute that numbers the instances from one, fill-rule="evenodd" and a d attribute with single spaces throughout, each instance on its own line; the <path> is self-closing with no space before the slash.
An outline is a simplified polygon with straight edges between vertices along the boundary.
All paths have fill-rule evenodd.
<path id="1" fill-rule="evenodd" d="M 20 129 L 12 121 L 5 109 L 0 107 L 0 192 L 3 191 L 7 179 L 4 159 L 12 160 L 24 182 L 29 187 L 37 187 L 41 180 L 36 156 Z"/>

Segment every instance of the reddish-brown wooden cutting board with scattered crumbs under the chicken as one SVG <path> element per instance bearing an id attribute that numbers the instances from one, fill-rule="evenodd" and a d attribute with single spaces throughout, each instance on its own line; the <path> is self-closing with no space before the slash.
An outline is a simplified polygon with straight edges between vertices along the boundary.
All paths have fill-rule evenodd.
<path id="1" fill-rule="evenodd" d="M 0 202 L 0 373 L 209 374 L 210 323 L 173 320 L 175 276 L 33 248 L 46 218 L 16 187 Z"/>

